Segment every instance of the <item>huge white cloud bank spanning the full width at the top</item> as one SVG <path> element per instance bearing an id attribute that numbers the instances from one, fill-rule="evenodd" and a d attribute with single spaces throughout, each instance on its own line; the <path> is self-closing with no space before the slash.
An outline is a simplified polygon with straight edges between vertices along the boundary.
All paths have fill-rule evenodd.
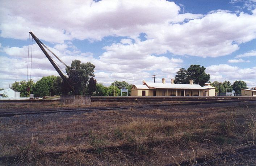
<path id="1" fill-rule="evenodd" d="M 31 30 L 38 38 L 55 43 L 104 36 L 128 36 L 138 43 L 136 38 L 144 32 L 147 40 L 138 47 L 150 44 L 151 53 L 200 57 L 230 54 L 239 44 L 256 38 L 256 15 L 237 16 L 225 10 L 205 16 L 179 12 L 178 5 L 165 0 L 5 1 L 0 8 L 0 36 L 27 39 Z M 131 44 L 131 40 L 121 43 Z"/>

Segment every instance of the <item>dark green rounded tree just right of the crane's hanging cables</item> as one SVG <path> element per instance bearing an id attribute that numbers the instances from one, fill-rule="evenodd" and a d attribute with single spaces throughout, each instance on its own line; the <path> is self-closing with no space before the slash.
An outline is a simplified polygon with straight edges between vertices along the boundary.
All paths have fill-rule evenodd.
<path id="1" fill-rule="evenodd" d="M 35 84 L 34 96 L 48 96 L 49 95 L 49 86 L 46 82 L 46 79 L 40 79 Z"/>

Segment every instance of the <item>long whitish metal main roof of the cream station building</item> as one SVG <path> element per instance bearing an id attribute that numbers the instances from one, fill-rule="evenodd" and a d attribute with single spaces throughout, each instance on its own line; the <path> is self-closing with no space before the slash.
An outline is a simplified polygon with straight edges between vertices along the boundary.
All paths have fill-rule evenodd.
<path id="1" fill-rule="evenodd" d="M 165 89 L 203 89 L 206 90 L 206 88 L 202 88 L 198 84 L 172 84 L 172 83 L 146 83 L 148 87 L 152 88 L 165 88 Z"/>

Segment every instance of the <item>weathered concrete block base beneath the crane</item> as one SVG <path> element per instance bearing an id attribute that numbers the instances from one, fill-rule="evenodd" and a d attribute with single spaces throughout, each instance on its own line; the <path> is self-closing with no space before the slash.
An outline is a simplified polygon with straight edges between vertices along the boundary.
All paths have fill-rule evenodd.
<path id="1" fill-rule="evenodd" d="M 64 105 L 91 105 L 91 95 L 60 95 L 60 100 Z"/>

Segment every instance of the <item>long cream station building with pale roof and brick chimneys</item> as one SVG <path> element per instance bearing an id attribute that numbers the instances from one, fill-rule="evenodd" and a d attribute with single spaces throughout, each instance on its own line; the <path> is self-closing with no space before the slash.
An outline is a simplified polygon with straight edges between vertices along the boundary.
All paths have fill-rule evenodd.
<path id="1" fill-rule="evenodd" d="M 162 79 L 162 83 L 142 81 L 142 84 L 134 84 L 131 88 L 131 96 L 215 96 L 215 88 L 206 83 L 205 87 L 193 84 L 175 84 L 171 79 L 170 83 Z"/>

